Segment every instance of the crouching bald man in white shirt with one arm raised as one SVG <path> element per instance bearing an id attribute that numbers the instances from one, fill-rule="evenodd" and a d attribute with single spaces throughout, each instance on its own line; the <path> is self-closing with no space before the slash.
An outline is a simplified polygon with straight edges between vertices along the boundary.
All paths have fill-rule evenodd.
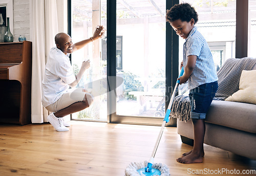
<path id="1" fill-rule="evenodd" d="M 42 105 L 52 112 L 47 119 L 57 131 L 69 130 L 70 125 L 63 120 L 64 116 L 81 111 L 93 102 L 93 96 L 86 90 L 69 89 L 79 83 L 84 71 L 90 67 L 90 61 L 83 61 L 79 73 L 74 75 L 69 55 L 99 39 L 103 35 L 102 29 L 99 26 L 92 37 L 74 45 L 66 33 L 55 36 L 56 47 L 50 50 L 42 80 Z"/>

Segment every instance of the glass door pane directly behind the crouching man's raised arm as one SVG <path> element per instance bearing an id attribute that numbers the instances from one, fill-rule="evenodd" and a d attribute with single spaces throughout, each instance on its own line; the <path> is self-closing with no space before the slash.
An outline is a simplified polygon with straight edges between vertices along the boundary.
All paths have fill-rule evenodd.
<path id="1" fill-rule="evenodd" d="M 73 43 L 93 36 L 97 25 L 106 27 L 106 0 L 72 0 L 70 2 L 72 13 L 71 36 Z M 102 50 L 102 46 L 104 46 L 102 42 L 104 42 L 105 38 L 106 36 L 93 41 L 72 54 L 71 60 L 75 75 L 78 73 L 82 61 L 90 59 L 91 67 L 86 70 L 77 88 L 85 88 L 94 95 L 93 105 L 83 111 L 72 114 L 72 119 L 107 121 L 107 65 L 106 58 L 104 57 L 106 51 Z"/>

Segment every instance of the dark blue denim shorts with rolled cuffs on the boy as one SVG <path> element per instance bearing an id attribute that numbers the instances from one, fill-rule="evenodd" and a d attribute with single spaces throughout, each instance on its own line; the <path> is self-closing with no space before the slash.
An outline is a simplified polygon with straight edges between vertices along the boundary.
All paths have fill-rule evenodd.
<path id="1" fill-rule="evenodd" d="M 205 83 L 189 91 L 189 100 L 191 105 L 191 119 L 205 119 L 206 113 L 210 107 L 212 99 L 218 89 L 218 81 Z"/>

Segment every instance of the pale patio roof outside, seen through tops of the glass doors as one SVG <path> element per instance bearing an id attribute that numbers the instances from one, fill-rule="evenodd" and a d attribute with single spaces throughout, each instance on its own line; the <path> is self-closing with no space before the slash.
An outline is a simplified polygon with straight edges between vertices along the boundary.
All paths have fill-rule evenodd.
<path id="1" fill-rule="evenodd" d="M 73 21 L 92 19 L 93 4 L 101 3 L 101 17 L 106 18 L 106 0 L 72 0 Z M 166 12 L 166 0 L 116 0 L 117 19 L 163 17 Z M 199 13 L 200 20 L 235 19 L 236 0 L 184 0 Z M 256 1 L 249 0 L 250 8 L 256 9 Z M 202 15 L 203 14 L 203 15 Z M 211 15 L 211 17 L 209 16 Z M 230 17 L 229 17 L 230 16 Z"/>

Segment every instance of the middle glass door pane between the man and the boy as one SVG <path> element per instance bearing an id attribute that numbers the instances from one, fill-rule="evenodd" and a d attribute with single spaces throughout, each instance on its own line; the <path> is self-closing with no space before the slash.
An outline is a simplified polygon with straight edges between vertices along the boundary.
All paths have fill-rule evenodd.
<path id="1" fill-rule="evenodd" d="M 160 124 L 165 114 L 166 0 L 116 1 L 115 123 Z"/>

